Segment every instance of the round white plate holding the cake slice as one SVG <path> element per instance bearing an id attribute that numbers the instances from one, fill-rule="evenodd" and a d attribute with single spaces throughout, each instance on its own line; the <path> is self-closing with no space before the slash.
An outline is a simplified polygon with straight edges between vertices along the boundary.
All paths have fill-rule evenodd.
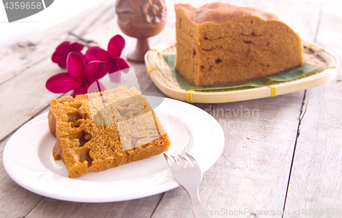
<path id="1" fill-rule="evenodd" d="M 202 172 L 218 160 L 224 147 L 224 134 L 211 115 L 173 99 L 164 99 L 155 112 L 170 136 L 167 154 L 177 155 L 187 149 L 198 160 Z M 194 144 L 187 147 L 192 141 L 190 132 Z M 51 153 L 55 141 L 49 130 L 47 113 L 23 125 L 10 138 L 3 152 L 3 167 L 10 178 L 39 195 L 71 202 L 124 201 L 179 186 L 162 154 L 70 179 L 62 160 L 53 160 Z"/>

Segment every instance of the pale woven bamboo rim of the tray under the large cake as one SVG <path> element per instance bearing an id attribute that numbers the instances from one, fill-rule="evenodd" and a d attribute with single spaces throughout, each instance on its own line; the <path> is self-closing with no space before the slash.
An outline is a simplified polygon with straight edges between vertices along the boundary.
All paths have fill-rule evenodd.
<path id="1" fill-rule="evenodd" d="M 284 82 L 280 84 L 274 84 L 273 87 L 276 89 L 276 95 L 272 95 L 272 91 L 274 88 L 269 86 L 261 86 L 258 88 L 250 88 L 244 90 L 231 90 L 231 91 L 218 91 L 218 92 L 198 92 L 198 91 L 187 91 L 183 89 L 175 89 L 170 86 L 167 86 L 156 74 L 154 71 L 157 71 L 158 74 L 161 74 L 161 71 L 158 69 L 157 64 L 155 63 L 155 57 L 160 51 L 175 45 L 176 40 L 171 40 L 166 43 L 161 43 L 153 47 L 146 52 L 144 59 L 146 64 L 146 69 L 153 69 L 149 72 L 150 79 L 153 83 L 163 92 L 164 94 L 181 101 L 187 101 L 189 103 L 226 103 L 226 102 L 234 102 L 234 101 L 246 101 L 250 99 L 259 99 L 264 97 L 274 97 L 276 95 L 284 95 L 288 93 L 294 93 L 300 90 L 306 90 L 308 88 L 313 88 L 315 86 L 320 86 L 331 80 L 337 76 L 339 69 L 339 62 L 337 58 L 332 55 L 329 51 L 326 51 L 323 47 L 315 43 L 311 43 L 308 40 L 302 39 L 302 44 L 309 49 L 312 49 L 316 53 L 318 53 L 324 60 L 326 60 L 328 66 L 324 71 L 317 73 L 315 75 L 311 75 L 310 77 L 303 77 L 299 80 L 293 80 L 290 82 Z M 191 98 L 189 98 L 191 95 Z"/>

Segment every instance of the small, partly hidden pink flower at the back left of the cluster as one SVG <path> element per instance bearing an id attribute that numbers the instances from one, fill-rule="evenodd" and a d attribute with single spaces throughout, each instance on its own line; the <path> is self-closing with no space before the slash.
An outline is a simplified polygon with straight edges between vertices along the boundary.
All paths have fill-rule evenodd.
<path id="1" fill-rule="evenodd" d="M 52 62 L 57 63 L 61 68 L 66 68 L 66 58 L 68 57 L 68 53 L 73 51 L 81 52 L 83 47 L 84 45 L 77 42 L 63 42 L 58 45 L 56 51 L 51 57 L 51 60 Z"/>

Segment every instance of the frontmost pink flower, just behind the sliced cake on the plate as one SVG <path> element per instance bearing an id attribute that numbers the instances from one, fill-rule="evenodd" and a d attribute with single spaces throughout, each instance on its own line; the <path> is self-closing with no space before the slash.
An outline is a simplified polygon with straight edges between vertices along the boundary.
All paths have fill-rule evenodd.
<path id="1" fill-rule="evenodd" d="M 74 90 L 73 97 L 85 93 L 105 90 L 98 80 L 107 72 L 105 62 L 92 61 L 86 64 L 86 59 L 79 52 L 71 52 L 66 59 L 68 72 L 58 73 L 47 80 L 47 89 L 53 93 L 66 93 Z"/>

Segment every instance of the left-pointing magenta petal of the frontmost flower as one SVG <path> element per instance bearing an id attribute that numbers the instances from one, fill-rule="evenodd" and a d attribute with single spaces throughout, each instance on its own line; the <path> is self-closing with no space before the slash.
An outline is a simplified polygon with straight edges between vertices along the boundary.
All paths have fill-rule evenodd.
<path id="1" fill-rule="evenodd" d="M 75 80 L 69 73 L 58 73 L 50 77 L 45 86 L 53 93 L 66 93 L 81 84 L 81 81 Z"/>

